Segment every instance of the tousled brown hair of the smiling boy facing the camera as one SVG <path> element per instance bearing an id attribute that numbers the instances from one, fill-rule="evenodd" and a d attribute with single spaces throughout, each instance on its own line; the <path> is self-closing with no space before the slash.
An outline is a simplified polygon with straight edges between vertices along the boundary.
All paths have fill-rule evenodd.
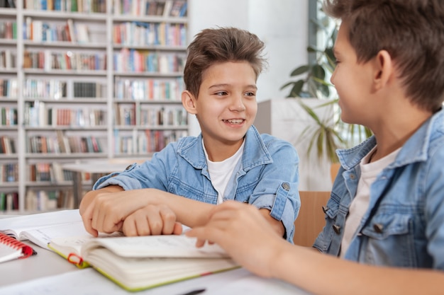
<path id="1" fill-rule="evenodd" d="M 220 62 L 249 62 L 257 79 L 267 64 L 262 56 L 264 48 L 264 42 L 247 30 L 238 28 L 202 30 L 188 46 L 184 69 L 185 87 L 197 98 L 204 71 Z"/>

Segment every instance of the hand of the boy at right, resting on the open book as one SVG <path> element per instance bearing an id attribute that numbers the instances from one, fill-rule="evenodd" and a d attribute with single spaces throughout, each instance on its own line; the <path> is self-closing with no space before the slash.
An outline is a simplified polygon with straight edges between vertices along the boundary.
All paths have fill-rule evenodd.
<path id="1" fill-rule="evenodd" d="M 205 241 L 217 243 L 243 267 L 264 277 L 272 276 L 279 247 L 289 244 L 256 207 L 236 201 L 216 206 L 205 226 L 196 226 L 186 235 L 198 238 L 198 247 Z"/>

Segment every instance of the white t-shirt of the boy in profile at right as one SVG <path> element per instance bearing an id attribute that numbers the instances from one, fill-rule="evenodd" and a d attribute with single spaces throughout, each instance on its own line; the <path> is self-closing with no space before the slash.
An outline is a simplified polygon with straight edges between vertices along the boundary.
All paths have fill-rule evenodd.
<path id="1" fill-rule="evenodd" d="M 370 185 L 376 180 L 377 175 L 390 163 L 393 163 L 396 155 L 399 153 L 399 149 L 393 151 L 391 154 L 380 158 L 378 161 L 368 163 L 370 155 L 373 154 L 376 146 L 361 160 L 361 177 L 357 183 L 356 197 L 353 199 L 352 204 L 350 204 L 350 209 L 348 210 L 348 216 L 345 220 L 345 229 L 343 241 L 340 244 L 340 257 L 343 258 L 345 253 L 350 246 L 350 242 L 355 236 L 357 227 L 360 225 L 362 216 L 369 207 L 370 202 Z"/>

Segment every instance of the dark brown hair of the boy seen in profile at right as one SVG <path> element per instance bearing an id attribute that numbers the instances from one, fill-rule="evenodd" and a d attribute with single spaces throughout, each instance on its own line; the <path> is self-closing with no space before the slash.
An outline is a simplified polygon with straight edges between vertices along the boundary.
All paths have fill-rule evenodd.
<path id="1" fill-rule="evenodd" d="M 348 23 L 358 62 L 386 50 L 406 96 L 435 112 L 444 100 L 444 1 L 324 0 L 324 11 Z"/>

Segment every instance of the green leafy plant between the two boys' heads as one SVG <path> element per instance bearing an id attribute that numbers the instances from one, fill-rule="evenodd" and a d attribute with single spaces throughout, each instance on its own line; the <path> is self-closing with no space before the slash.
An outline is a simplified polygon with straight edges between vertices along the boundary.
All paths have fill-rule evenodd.
<path id="1" fill-rule="evenodd" d="M 322 11 L 321 14 L 322 18 L 311 21 L 318 28 L 323 46 L 309 45 L 307 52 L 313 54 L 315 58 L 309 64 L 294 69 L 290 74 L 292 80 L 285 83 L 281 90 L 290 88 L 287 97 L 298 99 L 301 108 L 316 123 L 314 126 L 306 127 L 301 133 L 301 139 L 309 140 L 307 154 L 316 148 L 318 158 L 326 156 L 331 163 L 335 163 L 338 162 L 335 154 L 336 149 L 353 146 L 370 137 L 372 132 L 361 125 L 349 125 L 340 120 L 338 96 L 334 86 L 330 83 L 331 74 L 335 69 L 333 46 L 338 35 L 338 25 L 334 23 L 333 19 L 325 16 Z M 325 99 L 326 103 L 311 108 L 301 98 Z M 333 118 L 321 118 L 316 109 L 328 107 L 333 108 Z"/>

